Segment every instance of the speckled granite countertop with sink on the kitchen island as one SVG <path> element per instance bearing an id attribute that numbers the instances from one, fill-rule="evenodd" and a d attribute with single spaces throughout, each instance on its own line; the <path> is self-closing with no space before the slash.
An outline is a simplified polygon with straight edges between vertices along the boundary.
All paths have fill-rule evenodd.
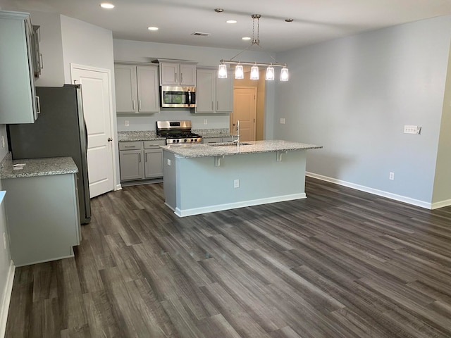
<path id="1" fill-rule="evenodd" d="M 226 156 L 226 155 L 240 155 L 253 153 L 268 153 L 276 151 L 290 151 L 290 150 L 306 150 L 306 149 L 320 149 L 323 146 L 316 146 L 314 144 L 304 144 L 297 142 L 289 142 L 283 140 L 272 141 L 252 141 L 245 142 L 247 145 L 237 146 L 230 145 L 230 143 L 216 143 L 215 146 L 209 144 L 187 144 L 187 145 L 169 145 L 161 146 L 166 151 L 171 151 L 179 156 L 185 158 L 194 157 L 209 157 L 209 156 Z M 220 144 L 220 145 L 218 145 Z"/>

